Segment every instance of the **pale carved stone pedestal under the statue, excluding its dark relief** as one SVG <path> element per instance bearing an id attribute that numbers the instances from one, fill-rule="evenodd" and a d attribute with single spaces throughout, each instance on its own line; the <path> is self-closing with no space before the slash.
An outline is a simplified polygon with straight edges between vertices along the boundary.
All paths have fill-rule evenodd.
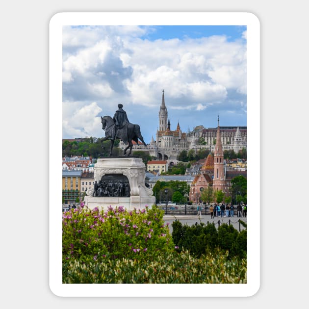
<path id="1" fill-rule="evenodd" d="M 153 190 L 145 185 L 145 164 L 141 158 L 103 158 L 94 165 L 94 180 L 99 183 L 106 175 L 124 175 L 129 180 L 129 197 L 93 197 L 93 188 L 87 191 L 85 204 L 94 207 L 124 206 L 127 209 L 151 207 L 155 204 Z"/>

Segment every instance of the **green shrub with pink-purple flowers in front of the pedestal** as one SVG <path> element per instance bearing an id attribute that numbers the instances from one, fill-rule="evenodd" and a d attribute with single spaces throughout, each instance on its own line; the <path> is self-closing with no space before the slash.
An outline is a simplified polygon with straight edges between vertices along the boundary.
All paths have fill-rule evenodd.
<path id="1" fill-rule="evenodd" d="M 153 258 L 173 250 L 174 244 L 163 211 L 156 206 L 76 208 L 62 215 L 62 258 L 87 264 L 109 259 Z"/>

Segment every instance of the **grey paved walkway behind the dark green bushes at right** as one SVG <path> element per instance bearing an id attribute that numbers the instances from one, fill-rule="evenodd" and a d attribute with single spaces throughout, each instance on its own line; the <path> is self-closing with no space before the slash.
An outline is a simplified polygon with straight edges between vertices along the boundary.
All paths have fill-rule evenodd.
<path id="1" fill-rule="evenodd" d="M 222 223 L 227 223 L 227 224 L 230 223 L 237 231 L 239 231 L 239 228 L 240 228 L 240 231 L 242 231 L 245 228 L 241 224 L 239 225 L 239 222 L 238 222 L 239 219 L 247 223 L 247 217 L 237 217 L 236 215 L 234 215 L 233 217 L 222 217 L 222 218 L 214 217 L 213 219 L 211 219 L 210 214 L 201 215 L 200 218 L 197 215 L 164 215 L 163 216 L 164 222 L 169 223 L 170 232 L 173 232 L 172 223 L 175 220 L 179 220 L 182 225 L 187 224 L 188 226 L 192 226 L 195 223 L 199 224 L 201 222 L 203 222 L 204 224 L 207 224 L 207 222 L 209 223 L 214 222 L 216 228 L 218 228 L 219 226 L 218 221 L 220 221 L 220 225 Z"/>

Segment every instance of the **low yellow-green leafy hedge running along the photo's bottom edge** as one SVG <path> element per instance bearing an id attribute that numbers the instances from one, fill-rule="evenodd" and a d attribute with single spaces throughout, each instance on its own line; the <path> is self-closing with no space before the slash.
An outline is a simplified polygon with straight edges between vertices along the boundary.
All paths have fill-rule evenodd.
<path id="1" fill-rule="evenodd" d="M 247 283 L 246 259 L 216 251 L 194 258 L 188 251 L 156 259 L 108 259 L 63 264 L 63 283 Z"/>

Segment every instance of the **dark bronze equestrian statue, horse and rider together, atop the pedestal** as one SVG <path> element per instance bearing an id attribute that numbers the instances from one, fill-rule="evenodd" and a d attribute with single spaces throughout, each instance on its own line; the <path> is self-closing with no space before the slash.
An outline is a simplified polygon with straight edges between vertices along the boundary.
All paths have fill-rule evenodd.
<path id="1" fill-rule="evenodd" d="M 128 156 L 132 152 L 132 140 L 138 145 L 138 139 L 147 147 L 144 142 L 143 136 L 139 125 L 134 125 L 129 122 L 127 113 L 123 110 L 123 104 L 118 104 L 118 110 L 116 110 L 113 118 L 110 116 L 101 117 L 102 129 L 105 131 L 105 137 L 101 139 L 101 142 L 110 140 L 110 154 L 112 155 L 115 139 L 122 140 L 128 147 L 125 148 L 124 155 Z"/>

